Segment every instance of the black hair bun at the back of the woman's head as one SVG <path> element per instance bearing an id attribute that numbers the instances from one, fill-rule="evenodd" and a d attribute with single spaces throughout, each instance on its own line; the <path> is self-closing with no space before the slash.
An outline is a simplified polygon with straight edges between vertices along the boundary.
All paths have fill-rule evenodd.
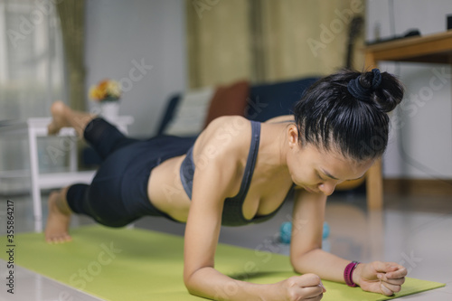
<path id="1" fill-rule="evenodd" d="M 379 80 L 380 77 L 380 80 Z M 360 85 L 370 91 L 369 100 L 382 112 L 391 112 L 403 99 L 403 86 L 395 76 L 378 69 L 361 73 Z M 380 81 L 377 85 L 376 82 Z"/>

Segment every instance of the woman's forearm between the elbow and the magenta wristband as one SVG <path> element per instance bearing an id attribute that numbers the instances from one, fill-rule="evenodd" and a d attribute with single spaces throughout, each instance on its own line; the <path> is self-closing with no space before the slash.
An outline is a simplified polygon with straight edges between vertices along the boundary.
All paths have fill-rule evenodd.
<path id="1" fill-rule="evenodd" d="M 313 249 L 291 259 L 298 273 L 314 273 L 325 280 L 344 283 L 344 269 L 350 260 L 341 259 L 323 249 Z"/>

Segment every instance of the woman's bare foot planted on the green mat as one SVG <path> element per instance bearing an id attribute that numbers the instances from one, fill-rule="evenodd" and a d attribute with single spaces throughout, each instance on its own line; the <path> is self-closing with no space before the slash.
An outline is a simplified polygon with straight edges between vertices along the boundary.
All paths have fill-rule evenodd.
<path id="1" fill-rule="evenodd" d="M 51 193 L 49 197 L 49 216 L 45 226 L 45 240 L 48 243 L 63 243 L 72 240 L 68 233 L 71 210 L 63 202 L 65 200 L 62 199 L 62 192 Z"/>

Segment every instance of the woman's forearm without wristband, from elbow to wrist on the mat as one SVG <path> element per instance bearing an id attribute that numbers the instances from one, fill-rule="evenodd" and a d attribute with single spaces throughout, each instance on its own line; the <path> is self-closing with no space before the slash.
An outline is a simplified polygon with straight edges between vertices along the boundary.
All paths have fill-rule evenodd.
<path id="1" fill-rule="evenodd" d="M 260 285 L 233 279 L 214 268 L 200 268 L 185 280 L 190 294 L 214 300 L 280 300 L 277 284 Z"/>

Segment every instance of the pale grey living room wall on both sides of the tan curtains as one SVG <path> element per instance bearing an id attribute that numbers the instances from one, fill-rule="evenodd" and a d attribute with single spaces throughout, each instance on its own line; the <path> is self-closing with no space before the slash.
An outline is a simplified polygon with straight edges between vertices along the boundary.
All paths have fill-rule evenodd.
<path id="1" fill-rule="evenodd" d="M 121 101 L 120 114 L 136 119 L 130 127 L 132 136 L 152 135 L 165 101 L 187 87 L 184 5 L 180 0 L 87 1 L 87 89 L 106 77 L 128 78 L 135 64 L 142 61 L 152 66 L 145 69 L 141 80 L 133 82 Z M 447 12 L 452 12 L 448 0 L 368 1 L 366 39 L 373 40 L 377 32 L 385 38 L 410 28 L 419 28 L 422 34 L 444 32 Z M 449 66 L 436 64 L 383 63 L 381 69 L 400 75 L 407 88 L 406 101 L 414 101 L 434 72 L 451 74 Z M 451 107 L 447 79 L 432 99 L 417 106 L 416 114 L 407 114 L 411 112 L 407 109 L 394 113 L 404 118 L 404 127 L 391 132 L 383 165 L 385 177 L 452 177 Z M 406 154 L 400 155 L 403 151 Z"/>

